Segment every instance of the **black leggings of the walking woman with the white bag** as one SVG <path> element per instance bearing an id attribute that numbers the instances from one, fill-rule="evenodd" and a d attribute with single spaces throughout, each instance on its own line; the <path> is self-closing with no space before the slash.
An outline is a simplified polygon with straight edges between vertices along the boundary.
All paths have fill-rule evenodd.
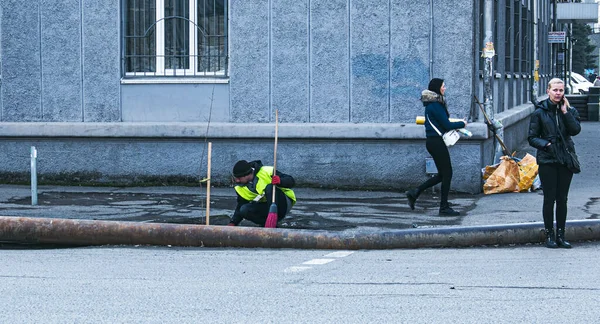
<path id="1" fill-rule="evenodd" d="M 425 189 L 435 186 L 438 183 L 442 183 L 442 207 L 448 205 L 448 193 L 450 192 L 450 182 L 452 182 L 452 162 L 450 161 L 450 152 L 444 140 L 439 137 L 427 137 L 425 141 L 425 147 L 427 152 L 431 154 L 435 167 L 438 169 L 438 173 L 433 178 L 425 181 L 419 186 L 419 193 Z"/>

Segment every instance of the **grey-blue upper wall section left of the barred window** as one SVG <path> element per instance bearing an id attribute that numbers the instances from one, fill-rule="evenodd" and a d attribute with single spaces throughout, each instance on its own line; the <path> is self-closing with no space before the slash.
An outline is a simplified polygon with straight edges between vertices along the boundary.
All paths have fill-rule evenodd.
<path id="1" fill-rule="evenodd" d="M 2 121 L 120 120 L 119 0 L 0 6 Z"/>

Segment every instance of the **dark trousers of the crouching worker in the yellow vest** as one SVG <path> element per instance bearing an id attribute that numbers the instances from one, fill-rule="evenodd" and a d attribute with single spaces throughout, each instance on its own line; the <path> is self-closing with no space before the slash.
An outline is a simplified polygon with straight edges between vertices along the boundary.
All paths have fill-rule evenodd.
<path id="1" fill-rule="evenodd" d="M 243 218 L 260 226 L 265 226 L 267 216 L 269 216 L 269 208 L 273 199 L 273 186 L 268 185 L 265 189 L 266 202 L 250 202 L 240 207 L 240 214 Z M 287 196 L 277 188 L 275 191 L 275 204 L 277 205 L 277 221 L 281 221 L 288 212 Z M 291 200 L 290 200 L 291 202 Z M 291 208 L 291 206 L 289 206 Z"/>

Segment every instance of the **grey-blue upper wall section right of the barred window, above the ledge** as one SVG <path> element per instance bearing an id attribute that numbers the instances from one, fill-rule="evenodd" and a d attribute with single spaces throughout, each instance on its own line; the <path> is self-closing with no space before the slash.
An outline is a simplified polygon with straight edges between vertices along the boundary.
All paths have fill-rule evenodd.
<path id="1" fill-rule="evenodd" d="M 465 117 L 473 89 L 473 6 L 406 0 L 231 1 L 232 121 L 394 123 L 422 114 L 430 72 Z M 249 87 L 248 85 L 253 85 Z"/>

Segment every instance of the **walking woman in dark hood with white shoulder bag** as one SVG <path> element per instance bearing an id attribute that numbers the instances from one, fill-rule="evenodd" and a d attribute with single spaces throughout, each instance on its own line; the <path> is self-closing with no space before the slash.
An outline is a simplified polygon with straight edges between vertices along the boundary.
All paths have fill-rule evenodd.
<path id="1" fill-rule="evenodd" d="M 450 152 L 442 136 L 440 136 L 431 124 L 444 134 L 452 129 L 465 128 L 466 121 L 451 122 L 444 97 L 446 93 L 446 84 L 442 79 L 431 79 L 427 90 L 421 93 L 421 101 L 425 106 L 425 147 L 427 152 L 433 157 L 435 167 L 438 173 L 435 177 L 429 178 L 418 188 L 406 192 L 408 205 L 410 209 L 415 209 L 415 202 L 419 195 L 427 188 L 433 187 L 438 183 L 442 183 L 442 196 L 440 203 L 440 216 L 459 216 L 460 213 L 452 209 L 448 204 L 448 193 L 450 192 L 450 182 L 452 181 L 452 162 L 450 162 Z"/>

